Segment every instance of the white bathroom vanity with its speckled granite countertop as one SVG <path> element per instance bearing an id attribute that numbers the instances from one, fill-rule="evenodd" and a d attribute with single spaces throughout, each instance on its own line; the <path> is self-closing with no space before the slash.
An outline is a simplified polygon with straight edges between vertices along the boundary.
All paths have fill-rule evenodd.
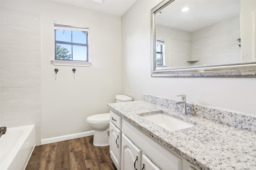
<path id="1" fill-rule="evenodd" d="M 192 114 L 181 115 L 180 108 L 171 100 L 166 103 L 168 107 L 161 102 L 157 105 L 145 100 L 108 104 L 111 109 L 110 155 L 118 170 L 256 168 L 255 132 Z M 183 120 L 192 126 L 168 130 L 159 122 L 146 118 L 155 114 Z M 255 126 L 256 117 L 251 118 Z"/>

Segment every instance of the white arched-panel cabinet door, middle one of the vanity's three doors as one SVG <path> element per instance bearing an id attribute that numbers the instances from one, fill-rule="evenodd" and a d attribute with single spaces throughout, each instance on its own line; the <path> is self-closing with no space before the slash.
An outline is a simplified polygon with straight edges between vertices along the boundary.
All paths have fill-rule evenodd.
<path id="1" fill-rule="evenodd" d="M 141 170 L 141 150 L 122 134 L 121 170 Z"/>

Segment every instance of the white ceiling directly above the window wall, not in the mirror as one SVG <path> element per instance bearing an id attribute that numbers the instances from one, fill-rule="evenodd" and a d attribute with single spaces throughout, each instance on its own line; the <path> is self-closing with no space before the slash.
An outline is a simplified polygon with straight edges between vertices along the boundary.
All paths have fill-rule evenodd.
<path id="1" fill-rule="evenodd" d="M 63 4 L 95 10 L 115 16 L 122 16 L 136 2 L 136 0 L 104 0 L 98 3 L 92 0 L 52 0 Z"/>

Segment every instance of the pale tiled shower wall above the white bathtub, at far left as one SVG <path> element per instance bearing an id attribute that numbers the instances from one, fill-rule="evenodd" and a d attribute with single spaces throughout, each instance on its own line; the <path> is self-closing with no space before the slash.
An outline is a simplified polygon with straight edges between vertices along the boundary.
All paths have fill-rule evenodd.
<path id="1" fill-rule="evenodd" d="M 41 18 L 1 8 L 0 23 L 0 126 L 34 124 L 39 145 Z"/>

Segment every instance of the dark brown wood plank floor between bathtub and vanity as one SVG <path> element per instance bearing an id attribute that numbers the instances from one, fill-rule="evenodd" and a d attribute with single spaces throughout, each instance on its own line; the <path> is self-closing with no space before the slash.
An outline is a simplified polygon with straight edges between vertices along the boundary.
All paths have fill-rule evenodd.
<path id="1" fill-rule="evenodd" d="M 116 170 L 109 146 L 95 147 L 93 136 L 36 146 L 25 170 Z"/>

